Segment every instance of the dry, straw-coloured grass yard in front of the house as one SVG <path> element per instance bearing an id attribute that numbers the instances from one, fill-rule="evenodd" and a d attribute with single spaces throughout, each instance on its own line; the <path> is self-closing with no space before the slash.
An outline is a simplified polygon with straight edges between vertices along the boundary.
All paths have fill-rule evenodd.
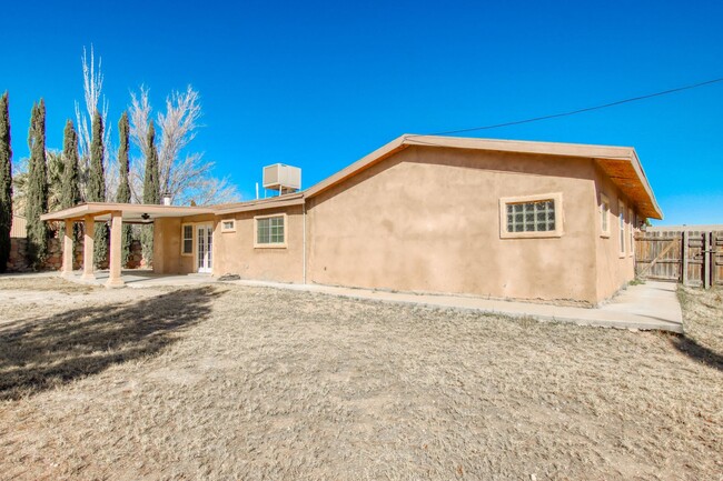
<path id="1" fill-rule="evenodd" d="M 0 278 L 0 479 L 717 481 L 722 294 L 676 337 Z"/>

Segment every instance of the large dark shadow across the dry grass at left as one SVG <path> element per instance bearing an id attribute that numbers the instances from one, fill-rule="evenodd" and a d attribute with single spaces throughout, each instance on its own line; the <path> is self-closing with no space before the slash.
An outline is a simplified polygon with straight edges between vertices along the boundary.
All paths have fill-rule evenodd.
<path id="1" fill-rule="evenodd" d="M 214 287 L 73 309 L 0 325 L 0 400 L 19 399 L 155 354 L 207 319 Z"/>

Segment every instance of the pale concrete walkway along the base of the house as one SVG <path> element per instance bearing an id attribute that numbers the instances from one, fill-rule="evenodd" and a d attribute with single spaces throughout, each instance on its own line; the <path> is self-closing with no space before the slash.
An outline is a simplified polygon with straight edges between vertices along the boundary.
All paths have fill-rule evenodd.
<path id="1" fill-rule="evenodd" d="M 572 322 L 581 325 L 683 332 L 683 313 L 675 294 L 676 284 L 668 282 L 648 281 L 644 284 L 630 285 L 600 308 L 501 301 L 465 295 L 413 294 L 318 284 L 285 284 L 246 280 L 231 283 L 320 292 L 353 299 L 414 303 L 434 308 L 466 309 L 514 318 Z"/>

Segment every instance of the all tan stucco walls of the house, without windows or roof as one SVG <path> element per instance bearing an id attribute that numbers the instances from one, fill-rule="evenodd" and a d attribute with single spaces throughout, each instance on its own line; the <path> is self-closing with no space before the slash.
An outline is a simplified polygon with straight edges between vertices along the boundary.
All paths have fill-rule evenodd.
<path id="1" fill-rule="evenodd" d="M 608 238 L 600 192 L 611 203 Z M 501 198 L 557 193 L 562 237 L 501 238 Z M 620 196 L 591 159 L 412 147 L 308 199 L 306 281 L 597 303 L 634 275 L 628 245 L 620 257 Z M 274 213 L 287 216 L 287 247 L 255 248 L 255 216 Z M 226 219 L 235 232 L 222 232 Z M 201 222 L 214 224 L 214 275 L 304 282 L 301 206 L 158 219 L 157 272 L 195 271 L 196 229 L 194 255 L 180 255 L 181 226 Z"/>

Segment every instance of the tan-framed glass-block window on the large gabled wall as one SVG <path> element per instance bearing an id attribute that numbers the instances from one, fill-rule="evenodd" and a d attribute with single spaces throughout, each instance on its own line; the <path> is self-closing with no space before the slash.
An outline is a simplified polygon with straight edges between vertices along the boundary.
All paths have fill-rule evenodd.
<path id="1" fill-rule="evenodd" d="M 499 199 L 502 239 L 552 238 L 563 234 L 563 194 L 506 197 Z"/>

